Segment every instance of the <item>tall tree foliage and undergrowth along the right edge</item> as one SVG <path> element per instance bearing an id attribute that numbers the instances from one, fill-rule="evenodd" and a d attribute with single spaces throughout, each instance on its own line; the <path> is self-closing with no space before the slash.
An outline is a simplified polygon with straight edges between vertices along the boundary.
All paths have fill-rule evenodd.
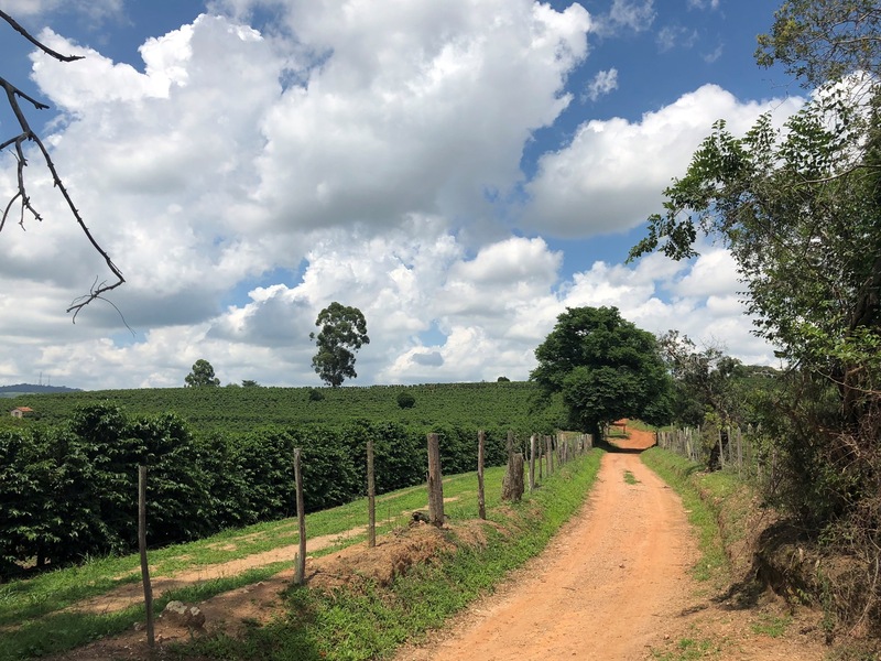
<path id="1" fill-rule="evenodd" d="M 881 7 L 785 2 L 757 57 L 809 101 L 782 130 L 718 121 L 631 258 L 693 257 L 700 234 L 731 251 L 787 368 L 763 421 L 786 469 L 774 496 L 870 567 L 863 617 L 881 635 Z"/>

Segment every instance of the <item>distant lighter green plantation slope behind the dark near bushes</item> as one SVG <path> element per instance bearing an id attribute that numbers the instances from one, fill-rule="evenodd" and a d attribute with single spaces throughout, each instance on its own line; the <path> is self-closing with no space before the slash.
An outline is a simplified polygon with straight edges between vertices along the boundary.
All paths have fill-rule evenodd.
<path id="1" fill-rule="evenodd" d="M 401 392 L 412 408 L 398 404 Z M 315 398 L 318 393 L 322 399 Z M 346 388 L 148 388 L 22 394 L 9 409 L 30 407 L 41 424 L 58 424 L 80 407 L 118 405 L 130 414 L 176 413 L 193 433 L 247 433 L 263 426 L 334 424 L 356 420 L 407 426 L 435 424 L 533 429 L 551 433 L 562 410 L 544 410 L 527 381 Z M 535 425 L 543 429 L 537 430 Z"/>

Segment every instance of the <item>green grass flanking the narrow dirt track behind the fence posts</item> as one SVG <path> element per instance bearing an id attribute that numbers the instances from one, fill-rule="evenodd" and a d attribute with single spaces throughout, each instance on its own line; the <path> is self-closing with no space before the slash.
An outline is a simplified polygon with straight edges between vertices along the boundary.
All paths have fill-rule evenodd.
<path id="1" fill-rule="evenodd" d="M 488 468 L 485 475 L 487 507 L 498 505 L 503 467 Z M 444 478 L 444 495 L 457 500 L 445 506 L 453 519 L 477 518 L 477 476 L 467 473 Z M 424 486 L 410 487 L 377 497 L 377 532 L 382 534 L 404 525 L 413 510 L 427 507 Z M 367 525 L 367 499 L 315 512 L 306 517 L 308 539 L 342 533 Z M 313 556 L 333 553 L 355 544 L 365 534 L 340 540 L 324 550 L 309 551 Z M 180 571 L 207 567 L 255 553 L 271 551 L 298 542 L 295 519 L 258 523 L 238 530 L 227 530 L 197 542 L 150 551 L 151 576 L 168 576 Z M 222 581 L 208 581 L 194 587 L 173 590 L 156 600 L 162 608 L 172 598 L 202 600 L 249 583 L 267 578 L 293 564 L 274 563 L 252 570 L 248 575 Z M 118 633 L 143 620 L 143 607 L 132 607 L 116 614 L 91 615 L 59 613 L 83 599 L 105 594 L 120 585 L 139 582 L 138 555 L 91 560 L 81 566 L 47 572 L 30 579 L 0 585 L 0 661 L 12 661 L 54 653 L 85 644 L 102 636 Z"/>

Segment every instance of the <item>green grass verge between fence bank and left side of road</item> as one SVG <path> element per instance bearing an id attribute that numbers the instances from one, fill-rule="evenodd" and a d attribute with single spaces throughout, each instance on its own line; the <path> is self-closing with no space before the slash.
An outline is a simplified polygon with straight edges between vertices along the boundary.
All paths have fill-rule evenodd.
<path id="1" fill-rule="evenodd" d="M 566 464 L 519 505 L 493 510 L 488 503 L 490 518 L 516 529 L 516 534 L 502 535 L 488 528 L 485 548 L 459 546 L 439 562 L 413 567 L 384 588 L 373 583 L 331 593 L 291 588 L 285 613 L 269 625 L 252 628 L 241 639 L 217 636 L 175 652 L 184 659 L 389 658 L 402 642 L 439 627 L 540 553 L 584 502 L 601 455 L 592 451 Z"/>

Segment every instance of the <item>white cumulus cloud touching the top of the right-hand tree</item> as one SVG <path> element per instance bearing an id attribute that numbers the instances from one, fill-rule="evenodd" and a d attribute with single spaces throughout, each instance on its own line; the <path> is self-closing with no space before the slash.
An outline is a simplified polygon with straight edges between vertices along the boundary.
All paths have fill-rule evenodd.
<path id="1" fill-rule="evenodd" d="M 537 175 L 526 184 L 524 225 L 562 237 L 635 227 L 661 209 L 664 188 L 685 173 L 715 121 L 744 132 L 762 112 L 773 110 L 782 120 L 801 105 L 798 98 L 744 102 L 705 85 L 639 122 L 587 121 L 568 145 L 540 159 Z"/>

